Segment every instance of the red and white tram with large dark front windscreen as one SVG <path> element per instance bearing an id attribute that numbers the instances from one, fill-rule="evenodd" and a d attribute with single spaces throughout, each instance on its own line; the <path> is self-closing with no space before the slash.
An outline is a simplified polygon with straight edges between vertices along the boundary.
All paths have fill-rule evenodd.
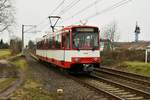
<path id="1" fill-rule="evenodd" d="M 101 62 L 99 29 L 95 26 L 68 26 L 37 42 L 36 55 L 71 72 L 91 72 Z"/>

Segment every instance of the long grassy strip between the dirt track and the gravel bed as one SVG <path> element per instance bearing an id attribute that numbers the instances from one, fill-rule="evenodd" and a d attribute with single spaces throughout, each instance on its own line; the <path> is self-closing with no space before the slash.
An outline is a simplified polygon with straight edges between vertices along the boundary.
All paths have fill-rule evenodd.
<path id="1" fill-rule="evenodd" d="M 19 89 L 11 94 L 11 99 L 14 100 L 52 100 L 52 95 L 45 90 L 43 84 L 32 77 L 32 72 L 28 69 L 27 62 L 24 58 L 19 58 L 12 61 L 20 69 L 25 77 L 24 82 Z"/>

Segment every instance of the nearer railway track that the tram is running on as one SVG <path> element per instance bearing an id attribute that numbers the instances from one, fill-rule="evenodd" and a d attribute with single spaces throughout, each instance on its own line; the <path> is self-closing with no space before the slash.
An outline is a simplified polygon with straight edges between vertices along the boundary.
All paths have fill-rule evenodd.
<path id="1" fill-rule="evenodd" d="M 100 72 L 92 73 L 91 76 L 86 77 L 71 76 L 60 71 L 59 73 L 100 95 L 104 95 L 104 98 L 108 98 L 108 100 L 150 100 L 150 93 L 101 77 L 98 74 Z"/>

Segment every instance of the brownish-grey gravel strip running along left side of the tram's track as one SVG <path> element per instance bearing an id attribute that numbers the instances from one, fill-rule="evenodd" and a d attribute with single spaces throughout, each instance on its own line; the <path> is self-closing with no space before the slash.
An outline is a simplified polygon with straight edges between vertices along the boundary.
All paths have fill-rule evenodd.
<path id="1" fill-rule="evenodd" d="M 29 65 L 28 72 L 31 74 L 28 77 L 42 83 L 54 100 L 108 100 L 79 83 L 52 71 L 50 65 L 42 65 L 30 56 L 27 56 L 26 59 Z M 58 89 L 63 92 L 58 93 Z"/>

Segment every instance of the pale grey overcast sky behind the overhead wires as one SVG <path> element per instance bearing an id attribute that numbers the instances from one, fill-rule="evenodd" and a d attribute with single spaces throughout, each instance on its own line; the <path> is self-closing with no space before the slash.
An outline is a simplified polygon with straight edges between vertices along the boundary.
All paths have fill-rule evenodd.
<path id="1" fill-rule="evenodd" d="M 63 0 L 16 0 L 17 28 L 15 30 L 15 35 L 21 36 L 22 24 L 39 24 L 37 30 L 42 31 L 37 34 L 26 33 L 26 41 L 29 39 L 34 40 L 35 38 L 44 35 L 44 32 L 49 30 L 47 17 L 62 1 Z M 95 1 L 98 2 L 91 7 L 88 7 L 84 12 L 76 14 L 76 12 Z M 64 22 L 59 23 L 59 25 L 80 24 L 80 20 L 101 12 L 103 9 L 106 9 L 119 1 L 122 0 L 64 0 L 62 6 L 54 11 L 53 15 L 61 15 L 62 19 L 60 22 L 65 20 Z M 74 6 L 69 8 L 71 2 L 74 2 Z M 120 33 L 120 41 L 134 41 L 133 32 L 135 23 L 138 21 L 138 24 L 141 27 L 140 40 L 150 40 L 149 4 L 150 0 L 131 0 L 121 7 L 87 19 L 87 24 L 98 26 L 101 30 L 107 24 L 115 21 L 117 23 L 117 31 Z M 68 9 L 65 9 L 66 7 L 68 7 Z M 66 19 L 68 20 L 66 21 Z M 26 27 L 26 29 L 28 29 L 28 27 Z M 8 36 L 1 35 L 0 37 Z"/>

